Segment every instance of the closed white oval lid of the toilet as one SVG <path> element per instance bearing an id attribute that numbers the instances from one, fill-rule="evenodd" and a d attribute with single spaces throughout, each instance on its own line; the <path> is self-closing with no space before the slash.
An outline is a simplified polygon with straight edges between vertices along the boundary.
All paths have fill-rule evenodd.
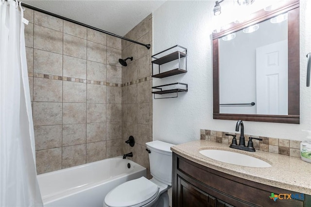
<path id="1" fill-rule="evenodd" d="M 108 207 L 143 206 L 159 193 L 159 187 L 145 177 L 127 181 L 108 192 L 104 203 Z"/>

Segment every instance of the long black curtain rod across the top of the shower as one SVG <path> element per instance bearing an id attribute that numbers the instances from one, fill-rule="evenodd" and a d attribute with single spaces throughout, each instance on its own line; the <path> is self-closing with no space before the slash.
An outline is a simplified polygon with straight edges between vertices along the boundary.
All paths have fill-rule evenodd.
<path id="1" fill-rule="evenodd" d="M 5 1 L 7 1 L 7 0 L 5 0 Z M 14 0 L 14 1 L 15 1 L 15 0 Z M 23 6 L 23 7 L 25 7 L 25 8 L 28 8 L 28 9 L 35 10 L 35 11 L 37 11 L 37 12 L 41 12 L 41 13 L 46 14 L 46 15 L 50 15 L 50 16 L 52 16 L 52 17 L 60 18 L 60 19 L 69 21 L 69 22 L 71 22 L 71 23 L 75 23 L 75 24 L 84 26 L 84 27 L 89 28 L 89 29 L 92 29 L 92 30 L 96 30 L 96 31 L 98 31 L 98 32 L 101 32 L 101 33 L 104 33 L 104 34 L 107 34 L 107 35 L 111 35 L 111 36 L 114 36 L 114 37 L 118 37 L 118 38 L 124 39 L 124 40 L 126 40 L 126 41 L 133 42 L 133 43 L 136 43 L 136 44 L 138 44 L 138 45 L 145 46 L 148 50 L 150 49 L 150 44 L 143 44 L 143 43 L 134 41 L 134 40 L 132 40 L 132 39 L 128 39 L 128 38 L 123 37 L 123 36 L 120 36 L 120 35 L 115 35 L 115 34 L 113 34 L 113 33 L 110 33 L 110 32 L 107 32 L 107 31 L 104 31 L 104 30 L 101 30 L 101 29 L 98 29 L 98 28 L 96 28 L 96 27 L 89 26 L 89 25 L 87 25 L 87 24 L 84 24 L 84 23 L 81 23 L 81 22 L 78 22 L 78 21 L 69 19 L 69 18 L 67 18 L 67 17 L 62 17 L 62 16 L 60 16 L 60 15 L 56 15 L 56 14 L 54 14 L 54 13 L 51 13 L 51 12 L 48 12 L 48 11 L 39 9 L 39 8 L 37 8 L 37 7 L 34 7 L 34 6 L 32 6 L 32 5 L 29 5 L 29 4 L 26 4 L 26 3 L 23 3 L 23 2 L 21 2 L 21 6 Z"/>

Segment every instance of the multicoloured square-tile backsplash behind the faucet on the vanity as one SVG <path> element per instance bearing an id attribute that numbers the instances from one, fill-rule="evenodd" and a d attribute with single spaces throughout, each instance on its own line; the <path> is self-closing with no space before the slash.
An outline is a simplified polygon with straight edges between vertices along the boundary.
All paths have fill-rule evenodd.
<path id="1" fill-rule="evenodd" d="M 207 129 L 200 130 L 202 140 L 213 141 L 213 142 L 230 145 L 232 142 L 232 136 L 226 136 L 225 135 L 226 133 L 234 134 L 236 135 L 237 140 L 240 139 L 240 134 L 237 134 L 237 133 L 213 131 L 213 130 L 207 130 Z M 254 147 L 256 150 L 280 154 L 280 155 L 300 157 L 300 142 L 301 141 L 281 139 L 281 138 L 259 137 L 255 135 L 244 135 L 244 137 L 245 137 L 245 143 L 247 143 L 249 137 L 262 138 L 262 141 L 253 139 Z"/>

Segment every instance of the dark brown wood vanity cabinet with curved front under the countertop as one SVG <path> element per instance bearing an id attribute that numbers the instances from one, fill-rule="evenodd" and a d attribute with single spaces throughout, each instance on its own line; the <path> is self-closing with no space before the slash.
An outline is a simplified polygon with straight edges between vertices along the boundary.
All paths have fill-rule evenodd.
<path id="1" fill-rule="evenodd" d="M 274 201 L 271 193 L 303 200 L 284 195 Z M 311 207 L 311 196 L 215 171 L 173 153 L 173 207 Z"/>

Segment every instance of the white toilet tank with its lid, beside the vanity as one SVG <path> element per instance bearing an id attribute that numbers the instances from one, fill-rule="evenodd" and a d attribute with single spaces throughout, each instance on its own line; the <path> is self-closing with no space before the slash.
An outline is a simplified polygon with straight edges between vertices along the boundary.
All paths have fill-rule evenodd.
<path id="1" fill-rule="evenodd" d="M 147 148 L 150 150 L 150 173 L 151 175 L 165 183 L 172 186 L 172 151 L 173 144 L 163 141 L 151 141 L 146 143 Z"/>

